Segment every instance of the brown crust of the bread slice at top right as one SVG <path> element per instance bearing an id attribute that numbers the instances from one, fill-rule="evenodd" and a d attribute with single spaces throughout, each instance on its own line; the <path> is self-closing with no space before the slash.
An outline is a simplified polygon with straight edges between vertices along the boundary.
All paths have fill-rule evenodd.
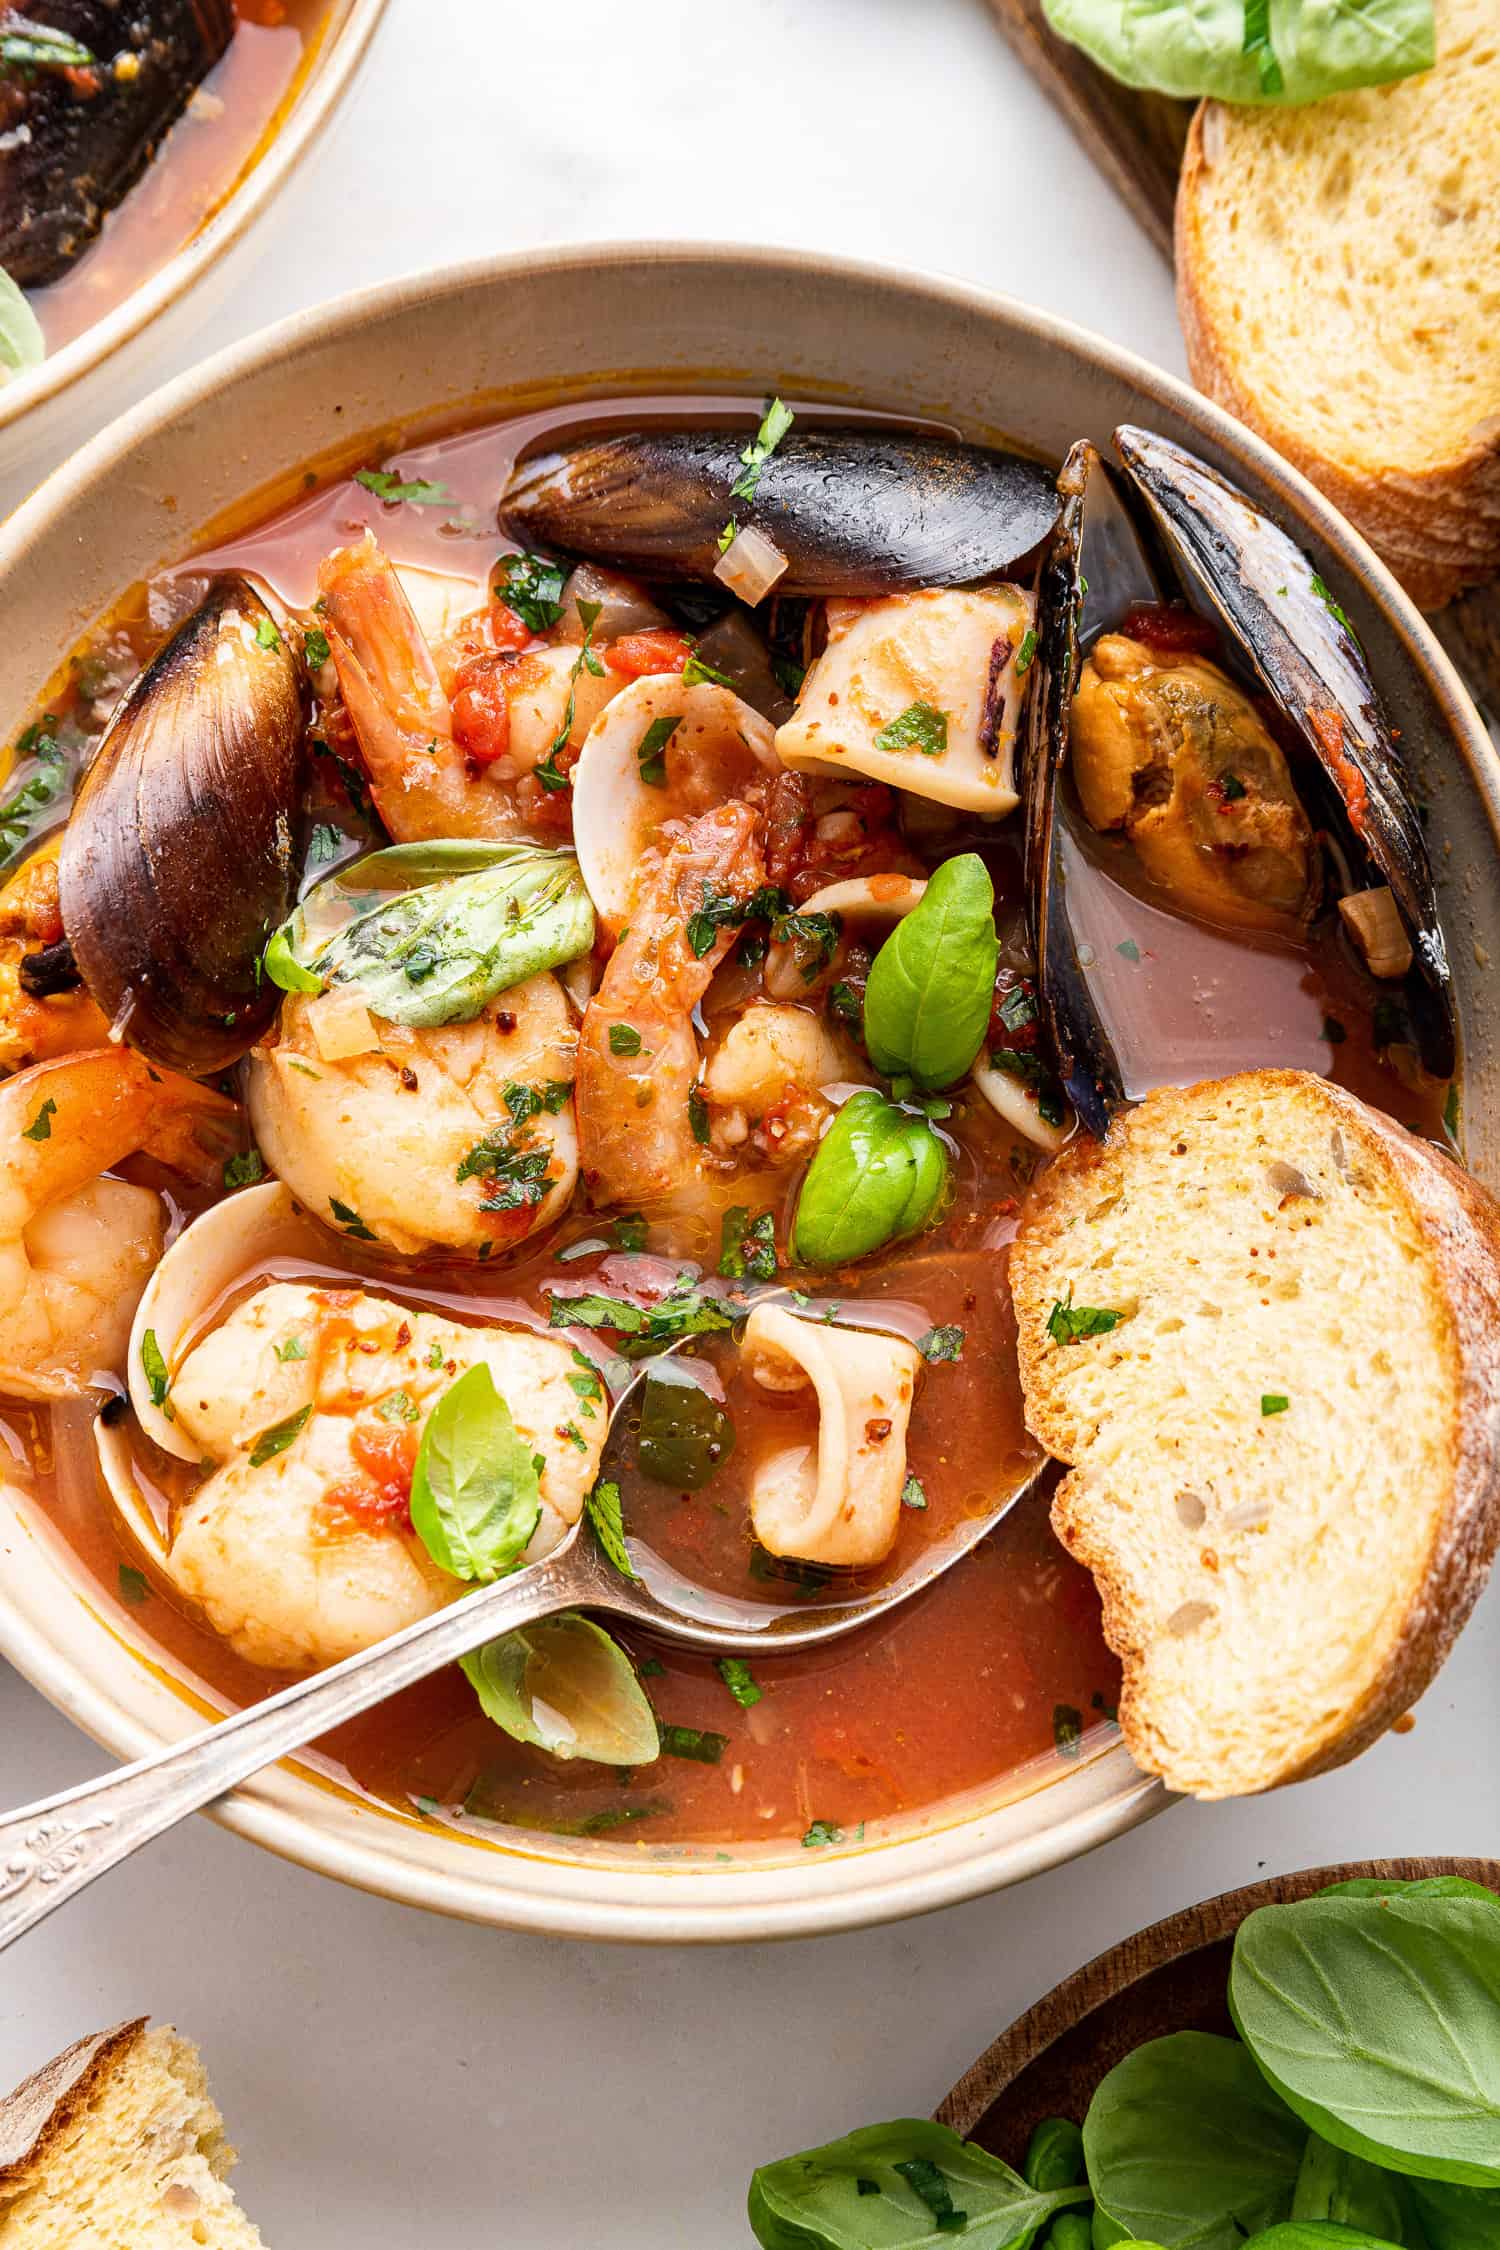
<path id="1" fill-rule="evenodd" d="M 1363 531 L 1421 610 L 1439 610 L 1466 585 L 1500 574 L 1500 421 L 1484 441 L 1424 470 L 1367 475 L 1311 446 L 1248 385 L 1235 338 L 1214 315 L 1217 268 L 1203 238 L 1212 176 L 1203 135 L 1212 108 L 1201 101 L 1194 110 L 1174 220 L 1176 313 L 1192 380 L 1300 468 Z"/>

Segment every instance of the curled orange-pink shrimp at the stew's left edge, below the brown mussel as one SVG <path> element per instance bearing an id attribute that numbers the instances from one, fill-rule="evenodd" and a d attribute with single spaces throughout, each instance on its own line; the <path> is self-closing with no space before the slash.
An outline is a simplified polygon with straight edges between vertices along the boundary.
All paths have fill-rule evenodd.
<path id="1" fill-rule="evenodd" d="M 0 1390 L 81 1397 L 119 1368 L 162 1256 L 162 1199 L 101 1177 L 133 1154 L 218 1179 L 236 1105 L 103 1046 L 0 1084 Z"/>

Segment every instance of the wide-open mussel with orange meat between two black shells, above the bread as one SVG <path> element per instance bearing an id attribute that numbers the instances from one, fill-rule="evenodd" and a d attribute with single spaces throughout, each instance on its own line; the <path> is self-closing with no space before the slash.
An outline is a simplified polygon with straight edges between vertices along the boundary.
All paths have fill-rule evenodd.
<path id="1" fill-rule="evenodd" d="M 1091 826 L 1124 828 L 1187 911 L 1282 936 L 1320 904 L 1302 803 L 1316 790 L 1336 855 L 1370 880 L 1340 900 L 1345 920 L 1374 929 L 1365 958 L 1406 976 L 1421 1064 L 1451 1078 L 1457 1033 L 1433 868 L 1347 619 L 1300 547 L 1203 461 L 1136 428 L 1115 432 L 1115 450 L 1122 472 L 1079 443 L 1059 475 L 1023 756 L 1041 1017 L 1068 1098 L 1095 1136 L 1124 1098 L 1068 914 L 1079 850 L 1057 796 L 1068 763 Z M 1136 605 L 1183 596 L 1176 648 L 1131 637 Z M 1122 619 L 1124 634 L 1113 630 Z M 1311 754 L 1302 772 L 1255 698 L 1194 646 L 1203 619 L 1284 738 Z"/>

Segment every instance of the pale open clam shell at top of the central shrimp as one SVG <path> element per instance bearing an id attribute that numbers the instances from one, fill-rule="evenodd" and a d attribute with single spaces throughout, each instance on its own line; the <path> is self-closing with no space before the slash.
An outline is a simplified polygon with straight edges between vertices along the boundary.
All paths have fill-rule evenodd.
<path id="1" fill-rule="evenodd" d="M 778 774 L 769 720 L 731 688 L 634 680 L 598 713 L 573 767 L 573 846 L 589 898 L 618 936 L 641 855 L 663 819 L 693 819 Z"/>

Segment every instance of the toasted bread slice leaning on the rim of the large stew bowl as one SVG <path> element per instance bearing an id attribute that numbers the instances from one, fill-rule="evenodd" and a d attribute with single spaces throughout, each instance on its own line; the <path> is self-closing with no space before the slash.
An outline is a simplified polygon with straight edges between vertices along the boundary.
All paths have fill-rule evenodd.
<path id="1" fill-rule="evenodd" d="M 1073 1143 L 1010 1280 L 1136 1762 L 1230 1798 L 1354 1757 L 1500 1532 L 1500 1206 L 1340 1087 L 1246 1071 Z"/>

